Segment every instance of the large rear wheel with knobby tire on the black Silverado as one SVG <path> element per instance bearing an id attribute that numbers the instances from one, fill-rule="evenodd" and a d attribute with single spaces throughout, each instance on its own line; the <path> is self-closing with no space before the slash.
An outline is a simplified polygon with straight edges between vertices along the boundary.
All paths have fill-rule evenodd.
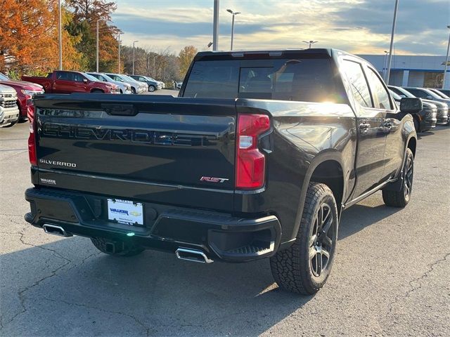
<path id="1" fill-rule="evenodd" d="M 338 240 L 338 207 L 330 188 L 310 183 L 297 239 L 270 258 L 278 286 L 311 295 L 330 275 Z"/>

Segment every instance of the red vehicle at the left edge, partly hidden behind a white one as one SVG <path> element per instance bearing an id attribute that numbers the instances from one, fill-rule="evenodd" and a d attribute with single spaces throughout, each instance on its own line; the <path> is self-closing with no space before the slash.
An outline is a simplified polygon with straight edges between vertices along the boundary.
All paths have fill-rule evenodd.
<path id="1" fill-rule="evenodd" d="M 13 81 L 0 73 L 0 84 L 11 86 L 17 92 L 17 105 L 20 110 L 19 123 L 27 120 L 27 111 L 32 103 L 33 95 L 44 93 L 44 88 L 39 84 L 26 81 Z"/>

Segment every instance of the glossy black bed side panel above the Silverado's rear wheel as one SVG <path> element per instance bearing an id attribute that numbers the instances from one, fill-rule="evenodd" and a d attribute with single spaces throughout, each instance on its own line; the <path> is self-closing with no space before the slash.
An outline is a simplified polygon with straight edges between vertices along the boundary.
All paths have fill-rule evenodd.
<path id="1" fill-rule="evenodd" d="M 238 100 L 238 113 L 266 112 L 272 130 L 262 140 L 266 149 L 264 192 L 236 192 L 235 209 L 269 211 L 281 220 L 281 242 L 293 239 L 314 169 L 326 160 L 338 161 L 344 175 L 344 197 L 354 187 L 356 120 L 345 104 L 276 100 Z M 258 112 L 259 111 L 259 112 Z"/>

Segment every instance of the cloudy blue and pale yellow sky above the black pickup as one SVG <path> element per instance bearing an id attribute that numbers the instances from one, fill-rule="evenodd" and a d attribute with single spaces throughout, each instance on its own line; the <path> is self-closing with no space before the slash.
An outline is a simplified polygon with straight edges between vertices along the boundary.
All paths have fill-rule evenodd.
<path id="1" fill-rule="evenodd" d="M 213 0 L 117 0 L 113 23 L 123 44 L 207 50 L 212 41 Z M 231 14 L 236 15 L 234 49 L 298 48 L 317 40 L 318 48 L 351 53 L 389 49 L 394 0 L 220 0 L 219 49 L 228 50 Z M 396 54 L 445 55 L 450 0 L 400 0 Z"/>

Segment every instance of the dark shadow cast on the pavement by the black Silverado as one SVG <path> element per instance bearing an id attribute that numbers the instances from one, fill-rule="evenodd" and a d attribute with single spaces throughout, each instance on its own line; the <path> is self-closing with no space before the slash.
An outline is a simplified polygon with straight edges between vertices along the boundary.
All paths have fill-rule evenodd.
<path id="1" fill-rule="evenodd" d="M 353 206 L 340 239 L 396 211 Z M 256 336 L 314 298 L 279 290 L 268 260 L 203 265 L 156 251 L 115 258 L 82 237 L 4 254 L 0 265 L 8 272 L 3 336 Z M 327 284 L 314 300 L 333 291 Z"/>

